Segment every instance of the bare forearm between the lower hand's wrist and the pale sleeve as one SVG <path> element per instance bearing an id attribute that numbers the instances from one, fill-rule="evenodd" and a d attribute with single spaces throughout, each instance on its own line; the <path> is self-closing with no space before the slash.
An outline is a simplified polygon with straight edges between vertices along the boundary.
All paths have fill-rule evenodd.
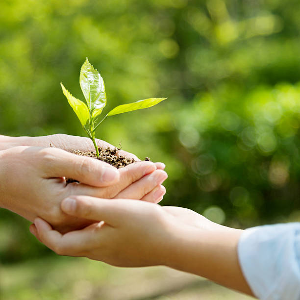
<path id="1" fill-rule="evenodd" d="M 237 245 L 243 231 L 226 228 L 220 226 L 219 231 L 183 229 L 180 233 L 176 230 L 174 250 L 166 265 L 253 296 L 238 261 Z"/>

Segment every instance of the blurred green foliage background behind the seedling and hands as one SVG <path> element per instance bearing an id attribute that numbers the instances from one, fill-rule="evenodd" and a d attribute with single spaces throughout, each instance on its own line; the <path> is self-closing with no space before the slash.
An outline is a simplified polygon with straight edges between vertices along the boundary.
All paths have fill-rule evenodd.
<path id="1" fill-rule="evenodd" d="M 79 97 L 88 56 L 107 111 L 168 97 L 97 133 L 166 163 L 162 205 L 232 226 L 297 221 L 299 14 L 297 0 L 2 0 L 0 133 L 82 135 L 59 83 Z M 49 253 L 28 222 L 0 218 L 0 261 Z"/>

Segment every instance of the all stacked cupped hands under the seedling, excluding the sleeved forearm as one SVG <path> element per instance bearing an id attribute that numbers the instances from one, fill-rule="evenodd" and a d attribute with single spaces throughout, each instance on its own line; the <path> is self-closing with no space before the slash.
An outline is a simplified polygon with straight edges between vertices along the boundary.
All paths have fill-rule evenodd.
<path id="1" fill-rule="evenodd" d="M 93 145 L 64 134 L 4 137 L 0 144 L 0 206 L 33 222 L 30 232 L 56 253 L 117 266 L 158 265 L 176 246 L 174 232 L 218 226 L 191 210 L 157 204 L 166 192 L 163 163 L 119 150 L 137 162 L 116 169 L 73 154 L 77 149 Z M 79 183 L 66 184 L 65 177 Z"/>

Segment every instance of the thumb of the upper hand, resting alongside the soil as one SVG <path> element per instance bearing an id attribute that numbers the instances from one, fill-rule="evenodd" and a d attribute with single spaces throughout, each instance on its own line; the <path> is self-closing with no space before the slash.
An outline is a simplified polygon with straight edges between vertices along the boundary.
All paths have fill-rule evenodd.
<path id="1" fill-rule="evenodd" d="M 75 155 L 60 149 L 42 149 L 45 173 L 69 177 L 93 186 L 107 186 L 119 180 L 118 170 L 100 160 Z"/>

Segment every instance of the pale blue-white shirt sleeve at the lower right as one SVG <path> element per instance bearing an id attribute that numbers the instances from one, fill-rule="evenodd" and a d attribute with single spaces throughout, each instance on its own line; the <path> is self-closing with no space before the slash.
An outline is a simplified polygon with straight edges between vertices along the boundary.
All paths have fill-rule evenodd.
<path id="1" fill-rule="evenodd" d="M 261 300 L 300 300 L 300 223 L 244 231 L 238 245 L 242 272 Z"/>

